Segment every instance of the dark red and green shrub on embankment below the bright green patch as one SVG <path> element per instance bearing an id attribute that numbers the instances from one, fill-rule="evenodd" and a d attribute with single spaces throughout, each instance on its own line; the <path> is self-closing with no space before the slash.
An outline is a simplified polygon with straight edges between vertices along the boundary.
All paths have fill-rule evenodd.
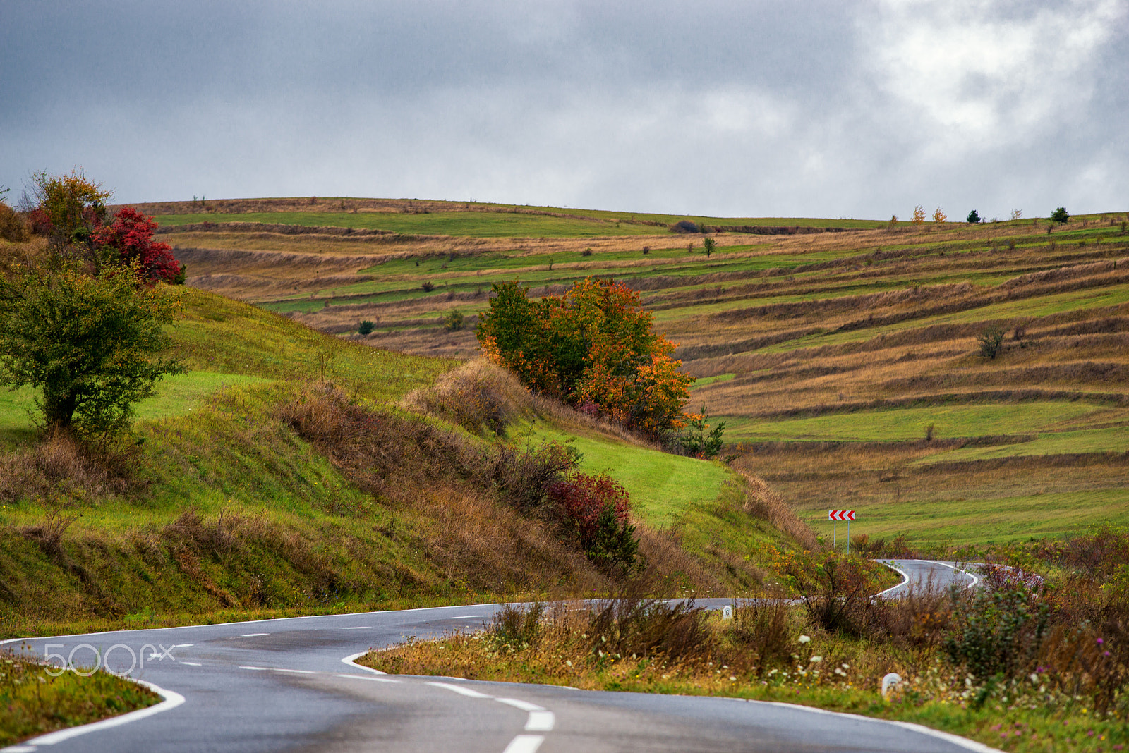
<path id="1" fill-rule="evenodd" d="M 597 565 L 610 570 L 630 570 L 636 565 L 639 540 L 628 522 L 627 489 L 607 473 L 574 473 L 549 487 L 566 535 L 575 539 Z"/>

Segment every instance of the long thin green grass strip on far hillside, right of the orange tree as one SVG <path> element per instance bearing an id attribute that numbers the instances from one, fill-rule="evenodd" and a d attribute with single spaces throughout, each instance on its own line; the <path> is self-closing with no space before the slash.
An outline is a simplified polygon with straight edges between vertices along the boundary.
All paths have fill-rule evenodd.
<path id="1" fill-rule="evenodd" d="M 1085 402 L 1043 401 L 869 410 L 784 420 L 739 416 L 718 419 L 726 422 L 725 435 L 730 441 L 883 442 L 924 438 L 930 425 L 936 438 L 1033 434 L 1101 409 Z"/>

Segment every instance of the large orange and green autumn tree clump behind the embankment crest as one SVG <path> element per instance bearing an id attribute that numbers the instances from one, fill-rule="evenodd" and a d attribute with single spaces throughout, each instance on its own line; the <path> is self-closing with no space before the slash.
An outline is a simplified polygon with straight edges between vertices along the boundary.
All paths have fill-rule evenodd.
<path id="1" fill-rule="evenodd" d="M 645 434 L 682 428 L 694 380 L 671 357 L 674 343 L 651 331 L 651 315 L 633 290 L 587 277 L 536 301 L 516 281 L 493 292 L 478 329 L 491 361 L 536 391 L 595 406 Z"/>

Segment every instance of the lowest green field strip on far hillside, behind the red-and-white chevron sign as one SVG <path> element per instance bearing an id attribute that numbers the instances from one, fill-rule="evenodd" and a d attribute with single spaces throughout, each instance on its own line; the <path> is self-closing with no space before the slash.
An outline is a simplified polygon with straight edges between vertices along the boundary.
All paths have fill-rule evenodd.
<path id="1" fill-rule="evenodd" d="M 844 500 L 843 508 L 855 507 Z M 916 542 L 1001 543 L 1031 537 L 1083 533 L 1096 525 L 1129 524 L 1129 488 L 1091 489 L 1015 497 L 969 497 L 866 504 L 857 507 L 851 537 L 872 539 L 904 533 Z M 830 543 L 828 511 L 800 506 L 799 516 Z M 846 525 L 839 523 L 839 544 Z"/>

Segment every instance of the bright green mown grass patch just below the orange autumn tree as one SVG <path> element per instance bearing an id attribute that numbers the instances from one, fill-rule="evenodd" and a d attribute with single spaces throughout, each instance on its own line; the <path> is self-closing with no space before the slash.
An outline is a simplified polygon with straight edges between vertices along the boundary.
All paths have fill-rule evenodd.
<path id="1" fill-rule="evenodd" d="M 537 424 L 523 435 L 531 444 L 557 441 L 579 450 L 585 473 L 607 473 L 631 495 L 631 510 L 647 525 L 666 529 L 692 505 L 711 503 L 732 471 L 718 463 L 672 455 L 597 436 L 579 436 Z"/>

